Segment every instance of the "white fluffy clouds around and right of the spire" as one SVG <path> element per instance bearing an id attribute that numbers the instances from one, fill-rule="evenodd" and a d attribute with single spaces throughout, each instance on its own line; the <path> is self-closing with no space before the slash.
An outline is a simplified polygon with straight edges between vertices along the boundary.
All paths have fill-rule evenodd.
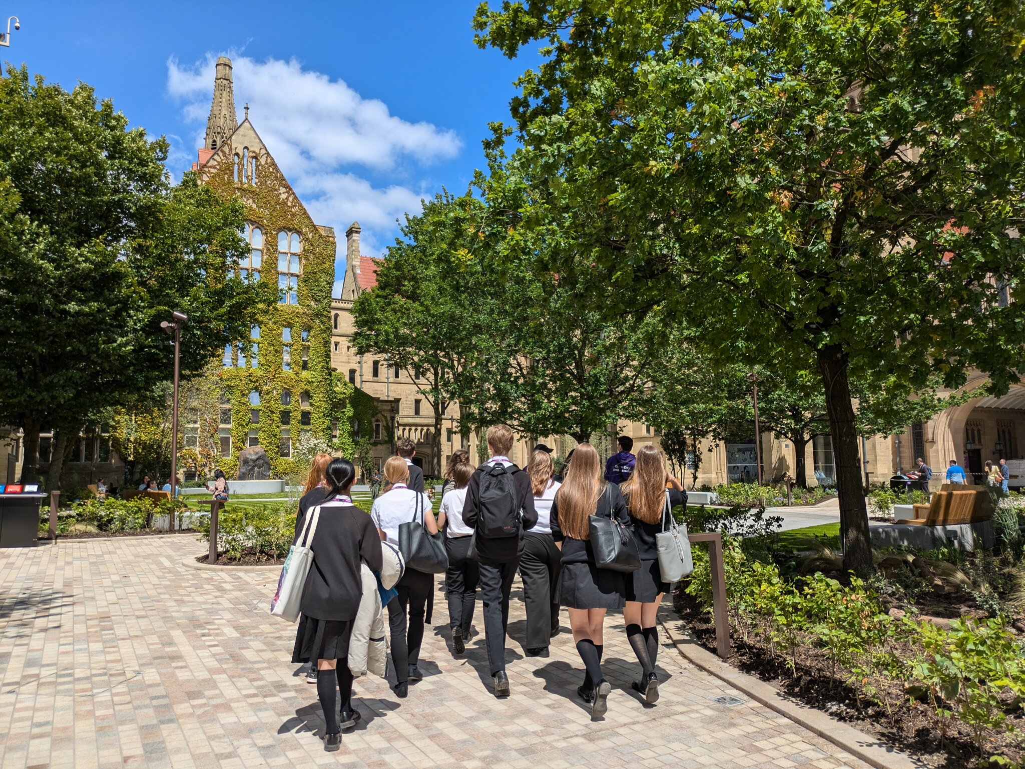
<path id="1" fill-rule="evenodd" d="M 206 129 L 216 57 L 208 53 L 193 66 L 167 62 L 167 91 L 180 103 L 182 118 L 196 125 L 196 146 Z M 363 253 L 379 254 L 395 237 L 395 220 L 419 211 L 420 199 L 429 195 L 422 181 L 415 185 L 419 191 L 410 188 L 409 171 L 453 158 L 462 147 L 454 131 L 405 121 L 384 102 L 303 70 L 294 58 L 235 55 L 232 66 L 239 117 L 248 103 L 253 126 L 315 221 L 335 228 L 339 260 L 353 221 L 363 227 Z M 385 179 L 385 185 L 375 187 L 354 166 Z"/>

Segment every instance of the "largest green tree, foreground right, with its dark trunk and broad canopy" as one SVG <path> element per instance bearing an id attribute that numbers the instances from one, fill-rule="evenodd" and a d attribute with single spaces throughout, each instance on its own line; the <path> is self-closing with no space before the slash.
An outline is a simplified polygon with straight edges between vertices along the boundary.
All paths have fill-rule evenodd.
<path id="1" fill-rule="evenodd" d="M 845 566 L 870 570 L 851 382 L 900 399 L 975 368 L 1000 393 L 1025 369 L 1025 6 L 524 0 L 475 27 L 544 43 L 509 173 L 606 311 L 658 298 L 717 356 L 815 360 Z"/>

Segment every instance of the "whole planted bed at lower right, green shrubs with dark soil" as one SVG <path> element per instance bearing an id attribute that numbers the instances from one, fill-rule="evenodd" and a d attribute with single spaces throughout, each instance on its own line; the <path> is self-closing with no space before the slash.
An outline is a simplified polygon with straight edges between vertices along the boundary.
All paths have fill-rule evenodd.
<path id="1" fill-rule="evenodd" d="M 694 555 L 675 605 L 712 646 L 708 559 L 701 548 Z M 735 664 L 932 765 L 1022 761 L 1025 648 L 1004 615 L 938 625 L 888 611 L 861 580 L 790 581 L 730 538 L 724 561 Z"/>

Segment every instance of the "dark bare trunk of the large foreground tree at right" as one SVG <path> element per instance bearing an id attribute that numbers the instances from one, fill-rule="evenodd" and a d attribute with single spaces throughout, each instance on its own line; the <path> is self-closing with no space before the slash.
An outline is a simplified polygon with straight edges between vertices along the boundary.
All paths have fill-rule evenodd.
<path id="1" fill-rule="evenodd" d="M 870 574 L 874 566 L 868 538 L 865 490 L 861 482 L 861 463 L 858 459 L 858 430 L 848 382 L 847 353 L 839 345 L 830 345 L 820 349 L 817 358 L 825 387 L 829 432 L 832 435 L 844 568 L 864 576 Z"/>

